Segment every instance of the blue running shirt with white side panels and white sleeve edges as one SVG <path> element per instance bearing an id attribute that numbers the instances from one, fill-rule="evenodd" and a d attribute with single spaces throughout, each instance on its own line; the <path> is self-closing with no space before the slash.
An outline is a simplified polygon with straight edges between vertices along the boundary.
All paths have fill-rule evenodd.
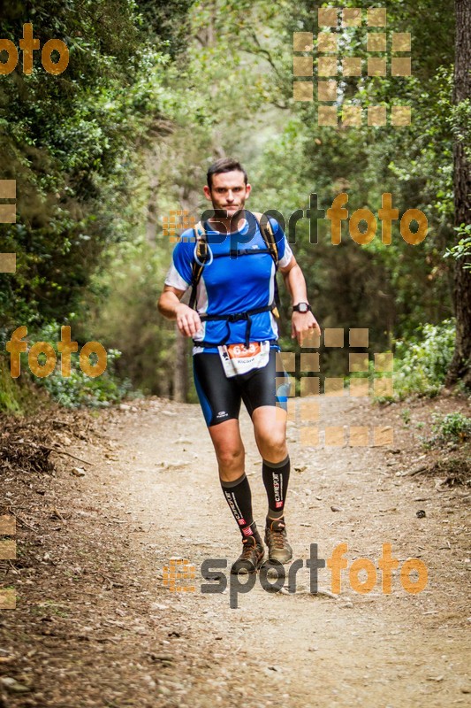
<path id="1" fill-rule="evenodd" d="M 291 261 L 292 250 L 277 221 L 270 219 L 270 224 L 277 240 L 278 266 L 283 268 Z M 254 235 L 248 241 L 247 236 L 244 236 L 248 231 L 247 220 L 239 231 L 226 235 L 212 231 L 209 222 L 205 222 L 204 227 L 209 243 L 209 260 L 203 268 L 196 290 L 197 311 L 214 315 L 233 314 L 271 304 L 274 299 L 276 268 L 270 253 L 256 253 L 257 250 L 267 248 L 258 223 Z M 172 264 L 165 277 L 166 285 L 179 290 L 191 286 L 195 245 L 193 229 L 186 229 L 173 250 Z M 230 250 L 244 249 L 250 250 L 250 254 L 230 257 Z M 211 258 L 211 254 L 217 258 Z M 219 257 L 219 254 L 224 255 Z M 254 314 L 251 319 L 252 342 L 277 340 L 277 320 L 271 312 Z M 245 342 L 246 325 L 245 320 L 204 321 L 202 329 L 194 335 L 194 342 L 223 342 L 228 332 L 227 344 Z M 193 353 L 201 351 L 215 352 L 217 348 L 195 346 Z"/>

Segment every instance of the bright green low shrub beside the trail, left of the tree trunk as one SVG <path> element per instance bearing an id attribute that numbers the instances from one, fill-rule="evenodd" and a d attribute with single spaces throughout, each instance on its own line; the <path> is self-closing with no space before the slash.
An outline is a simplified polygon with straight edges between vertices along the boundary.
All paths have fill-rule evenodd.
<path id="1" fill-rule="evenodd" d="M 395 342 L 394 392 L 406 396 L 437 396 L 452 360 L 454 319 L 418 327 L 414 338 Z"/>

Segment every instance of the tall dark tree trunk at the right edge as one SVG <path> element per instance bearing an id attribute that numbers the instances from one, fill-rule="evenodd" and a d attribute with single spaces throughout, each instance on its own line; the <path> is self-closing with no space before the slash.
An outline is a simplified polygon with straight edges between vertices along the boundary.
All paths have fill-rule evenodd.
<path id="1" fill-rule="evenodd" d="M 456 43 L 453 103 L 471 96 L 471 0 L 456 0 Z M 464 141 L 453 146 L 454 160 L 454 223 L 456 227 L 469 222 L 471 214 L 471 181 L 469 161 Z M 454 266 L 454 309 L 456 316 L 456 342 L 446 385 L 462 380 L 471 388 L 471 271 L 465 265 L 471 257 L 459 258 Z"/>

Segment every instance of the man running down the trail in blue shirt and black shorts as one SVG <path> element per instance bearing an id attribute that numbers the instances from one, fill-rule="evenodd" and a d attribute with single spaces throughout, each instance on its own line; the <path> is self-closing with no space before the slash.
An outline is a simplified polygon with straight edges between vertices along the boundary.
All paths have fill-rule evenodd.
<path id="1" fill-rule="evenodd" d="M 283 229 L 275 219 L 270 219 L 270 226 L 265 219 L 263 227 L 259 217 L 244 209 L 251 191 L 244 168 L 236 160 L 222 158 L 209 167 L 207 177 L 204 195 L 212 202 L 215 216 L 180 236 L 158 308 L 168 319 L 177 320 L 183 335 L 193 337 L 194 384 L 214 444 L 224 497 L 242 535 L 242 553 L 231 573 L 254 573 L 262 564 L 264 549 L 245 473 L 241 401 L 252 419 L 262 456 L 269 561 L 287 563 L 292 558 L 284 515 L 290 476 L 288 378 L 277 355 L 277 269 L 292 296 L 292 337 L 300 341 L 310 330 L 319 335 L 321 330 Z M 192 306 L 180 302 L 189 288 Z"/>

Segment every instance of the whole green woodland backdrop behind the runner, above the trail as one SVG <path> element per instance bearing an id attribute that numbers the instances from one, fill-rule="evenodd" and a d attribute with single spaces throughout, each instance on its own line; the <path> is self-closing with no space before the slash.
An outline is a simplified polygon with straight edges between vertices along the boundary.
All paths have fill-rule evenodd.
<path id="1" fill-rule="evenodd" d="M 318 127 L 315 101 L 293 102 L 292 33 L 316 34 L 319 6 L 0 3 L 2 37 L 18 46 L 30 21 L 42 44 L 57 37 L 70 49 L 59 76 L 38 57 L 31 76 L 21 63 L 0 76 L 0 179 L 17 181 L 17 223 L 0 225 L 0 251 L 17 252 L 17 272 L 0 273 L 0 340 L 27 325 L 29 341 L 57 342 L 71 325 L 73 339 L 110 350 L 99 380 L 78 365 L 71 380 L 35 380 L 50 396 L 71 406 L 136 391 L 195 400 L 191 342 L 156 310 L 173 247 L 162 224 L 175 209 L 198 217 L 206 169 L 224 155 L 246 166 L 254 211 L 287 219 L 311 193 L 327 209 L 342 191 L 351 213 L 377 213 L 384 192 L 399 214 L 422 210 L 429 235 L 417 246 L 397 223 L 389 246 L 380 226 L 359 246 L 346 225 L 333 246 L 327 221 L 313 244 L 303 219 L 293 249 L 321 326 L 368 327 L 370 349 L 395 354 L 399 395 L 471 386 L 469 3 L 388 4 L 388 33 L 412 34 L 413 76 L 340 81 L 339 98 L 365 108 L 410 105 L 412 125 L 401 128 Z M 346 56 L 366 57 L 364 23 L 342 33 Z M 285 294 L 283 305 L 281 341 L 294 350 Z M 324 357 L 323 371 L 346 373 L 345 358 Z M 0 409 L 29 405 L 23 372 L 11 381 L 2 352 Z"/>

